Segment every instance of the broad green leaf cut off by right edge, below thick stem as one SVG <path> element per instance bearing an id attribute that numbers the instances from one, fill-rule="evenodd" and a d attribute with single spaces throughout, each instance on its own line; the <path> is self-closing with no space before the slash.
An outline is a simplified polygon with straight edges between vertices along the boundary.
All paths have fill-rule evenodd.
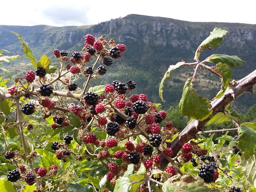
<path id="1" fill-rule="evenodd" d="M 256 152 L 256 123 L 242 123 L 238 133 L 238 146 L 245 159 L 248 159 Z"/>

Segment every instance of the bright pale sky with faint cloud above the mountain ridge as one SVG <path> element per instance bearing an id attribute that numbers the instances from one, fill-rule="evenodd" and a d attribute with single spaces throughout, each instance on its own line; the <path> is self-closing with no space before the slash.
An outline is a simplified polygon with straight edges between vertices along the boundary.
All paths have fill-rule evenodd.
<path id="1" fill-rule="evenodd" d="M 254 0 L 1 0 L 0 25 L 81 26 L 139 14 L 256 24 Z"/>

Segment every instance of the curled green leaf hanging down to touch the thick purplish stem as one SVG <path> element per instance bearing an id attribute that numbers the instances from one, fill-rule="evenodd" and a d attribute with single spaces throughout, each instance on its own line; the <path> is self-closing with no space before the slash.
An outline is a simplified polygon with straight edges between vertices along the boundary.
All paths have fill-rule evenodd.
<path id="1" fill-rule="evenodd" d="M 215 69 L 216 69 L 216 72 L 221 75 L 221 82 L 222 82 L 221 90 L 218 92 L 215 98 L 220 98 L 224 94 L 227 87 L 229 86 L 230 79 L 233 74 L 233 70 L 227 64 L 223 64 L 223 63 L 216 64 Z"/>

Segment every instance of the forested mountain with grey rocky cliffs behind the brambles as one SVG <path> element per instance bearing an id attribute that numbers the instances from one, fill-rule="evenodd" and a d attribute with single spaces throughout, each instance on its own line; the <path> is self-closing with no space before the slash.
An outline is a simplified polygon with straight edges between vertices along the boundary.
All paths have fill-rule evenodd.
<path id="1" fill-rule="evenodd" d="M 22 54 L 20 42 L 10 33 L 19 33 L 28 42 L 34 54 L 39 59 L 41 55 L 49 55 L 52 61 L 55 58 L 52 50 L 65 49 L 71 55 L 74 51 L 81 51 L 84 46 L 84 35 L 90 33 L 98 38 L 113 38 L 116 43 L 123 43 L 127 51 L 122 59 L 115 62 L 108 69 L 108 76 L 103 76 L 103 83 L 110 83 L 115 79 L 126 82 L 129 79 L 137 83 L 136 91 L 146 93 L 153 102 L 160 102 L 158 96 L 159 83 L 170 64 L 181 60 L 193 61 L 198 45 L 209 35 L 215 27 L 228 30 L 228 35 L 217 49 L 206 50 L 201 59 L 213 54 L 238 55 L 246 64 L 234 68 L 233 79 L 240 79 L 256 69 L 256 25 L 243 23 L 201 23 L 175 20 L 164 17 L 150 17 L 144 15 L 127 15 L 123 18 L 112 19 L 93 26 L 0 26 L 0 48 L 20 54 L 19 61 L 12 62 L 17 65 L 28 62 Z M 15 73 L 23 76 L 27 65 L 13 68 Z M 21 69 L 19 69 L 21 68 Z M 22 72 L 22 73 L 21 73 Z M 163 107 L 177 105 L 183 88 L 183 82 L 193 73 L 191 67 L 181 67 L 173 72 L 164 87 L 166 103 Z M 206 79 L 209 78 L 209 79 Z M 82 84 L 80 80 L 79 84 Z M 195 81 L 195 88 L 203 96 L 213 97 L 220 86 L 218 78 L 201 70 Z M 255 101 L 249 94 L 241 96 L 235 107 L 244 111 Z"/>

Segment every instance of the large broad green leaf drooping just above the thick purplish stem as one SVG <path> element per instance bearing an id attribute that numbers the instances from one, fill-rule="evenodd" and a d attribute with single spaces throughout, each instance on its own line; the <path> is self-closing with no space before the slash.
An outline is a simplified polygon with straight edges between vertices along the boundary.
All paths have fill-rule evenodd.
<path id="1" fill-rule="evenodd" d="M 198 96 L 192 86 L 192 78 L 189 78 L 183 88 L 179 110 L 183 116 L 187 116 L 189 119 L 202 121 L 211 114 L 209 110 L 211 105 L 207 98 Z"/>

